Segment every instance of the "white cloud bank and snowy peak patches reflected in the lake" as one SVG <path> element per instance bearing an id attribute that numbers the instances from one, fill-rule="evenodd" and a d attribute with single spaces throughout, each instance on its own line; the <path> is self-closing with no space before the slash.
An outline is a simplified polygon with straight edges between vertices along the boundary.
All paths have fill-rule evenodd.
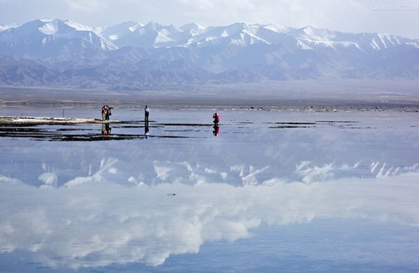
<path id="1" fill-rule="evenodd" d="M 419 184 L 412 183 L 419 181 L 416 168 L 394 176 L 333 179 L 333 164 L 317 167 L 307 161 L 297 166 L 296 173 L 309 184 L 271 178 L 264 184 L 237 187 L 205 179 L 207 174 L 211 182 L 212 175 L 221 177 L 223 172 L 208 168 L 194 172 L 198 167 L 187 163 L 156 162 L 157 177 L 180 175 L 182 182 L 187 173 L 196 175 L 199 183 L 129 187 L 106 178 L 110 171 L 119 172 L 116 163 L 112 158 L 101 161 L 97 172 L 75 177 L 58 189 L 38 189 L 0 177 L 0 251 L 24 249 L 46 265 L 73 268 L 130 262 L 161 265 L 171 253 L 197 253 L 204 242 L 248 237 L 262 222 L 366 218 L 419 225 Z M 374 166 L 371 172 L 387 173 Z M 263 171 L 242 172 L 245 169 L 236 168 L 239 176 Z M 324 182 L 316 183 L 314 177 Z M 39 179 L 48 185 L 55 182 L 52 172 Z M 177 194 L 167 195 L 172 192 Z M 24 198 L 16 202 L 16 196 Z"/>

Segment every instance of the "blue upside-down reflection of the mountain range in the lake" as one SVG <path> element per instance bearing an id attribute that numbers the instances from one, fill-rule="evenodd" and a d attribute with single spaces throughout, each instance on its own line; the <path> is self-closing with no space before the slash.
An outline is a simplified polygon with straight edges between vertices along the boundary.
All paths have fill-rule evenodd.
<path id="1" fill-rule="evenodd" d="M 364 121 L 239 122 L 225 124 L 220 138 L 211 138 L 212 128 L 202 124 L 190 124 L 189 130 L 176 125 L 178 132 L 169 130 L 167 123 L 156 124 L 148 142 L 141 142 L 144 128 L 125 128 L 124 124 L 114 126 L 113 137 L 136 133 L 136 138 L 55 142 L 54 146 L 44 142 L 33 146 L 30 139 L 25 142 L 27 138 L 22 138 L 20 146 L 3 149 L 10 160 L 2 162 L 2 175 L 49 187 L 94 181 L 98 176 L 127 186 L 174 182 L 246 186 L 273 180 L 315 183 L 342 177 L 389 177 L 419 170 L 416 151 L 411 149 L 416 143 L 415 127 L 409 124 L 395 131 Z M 278 124 L 296 128 L 278 129 Z M 51 127 L 48 134 L 57 128 Z M 69 134 L 90 130 L 101 138 L 94 128 L 71 127 Z M 169 138 L 157 139 L 156 135 Z M 25 172 L 20 171 L 21 150 L 25 158 L 36 158 L 23 159 Z"/>

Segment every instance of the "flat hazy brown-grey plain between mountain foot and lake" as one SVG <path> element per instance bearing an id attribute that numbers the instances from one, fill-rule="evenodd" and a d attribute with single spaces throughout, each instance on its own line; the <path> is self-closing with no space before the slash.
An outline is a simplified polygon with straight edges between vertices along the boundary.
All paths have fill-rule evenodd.
<path id="1" fill-rule="evenodd" d="M 419 109 L 419 82 L 304 80 L 256 84 L 171 87 L 157 91 L 103 91 L 48 87 L 0 87 L 1 107 L 318 110 Z"/>

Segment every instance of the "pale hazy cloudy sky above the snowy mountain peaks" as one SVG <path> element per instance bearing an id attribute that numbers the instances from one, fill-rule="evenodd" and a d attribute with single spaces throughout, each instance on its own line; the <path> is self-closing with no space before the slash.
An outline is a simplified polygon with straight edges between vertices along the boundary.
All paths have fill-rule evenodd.
<path id="1" fill-rule="evenodd" d="M 43 17 L 92 27 L 127 21 L 177 27 L 276 23 L 419 38 L 419 0 L 0 0 L 0 24 Z"/>

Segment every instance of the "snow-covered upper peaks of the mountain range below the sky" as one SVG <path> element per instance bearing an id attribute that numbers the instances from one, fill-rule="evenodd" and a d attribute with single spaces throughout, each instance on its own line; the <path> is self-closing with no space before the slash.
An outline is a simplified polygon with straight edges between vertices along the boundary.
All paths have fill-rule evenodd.
<path id="1" fill-rule="evenodd" d="M 10 30 L 10 26 L 0 26 L 0 31 Z M 149 22 L 125 22 L 106 28 L 87 27 L 71 20 L 41 19 L 16 26 L 13 33 L 3 35 L 2 40 L 13 36 L 12 44 L 26 40 L 48 40 L 58 38 L 82 38 L 97 40 L 102 48 L 114 50 L 121 47 L 189 47 L 198 45 L 239 45 L 242 47 L 257 43 L 266 45 L 297 46 L 299 49 L 350 47 L 356 50 L 388 49 L 402 43 L 418 47 L 417 40 L 409 40 L 391 34 L 352 34 L 317 27 L 294 29 L 278 24 L 246 24 L 238 22 L 227 26 L 202 27 L 197 23 L 185 24 L 178 28 Z M 35 31 L 37 30 L 37 31 Z M 1 33 L 0 32 L 0 33 Z M 10 32 L 10 31 L 8 31 Z M 45 36 L 47 37 L 45 39 Z M 100 43 L 99 43 L 100 40 Z M 26 42 L 24 42 L 26 43 Z"/>

